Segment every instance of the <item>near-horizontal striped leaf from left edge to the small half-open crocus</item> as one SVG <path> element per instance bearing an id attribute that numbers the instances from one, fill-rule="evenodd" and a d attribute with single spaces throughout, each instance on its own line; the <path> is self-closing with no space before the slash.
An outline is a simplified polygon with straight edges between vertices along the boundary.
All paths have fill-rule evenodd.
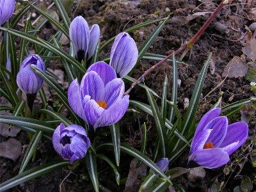
<path id="1" fill-rule="evenodd" d="M 54 129 L 51 128 L 50 124 L 47 124 L 45 122 L 42 122 L 40 120 L 36 120 L 33 118 L 26 118 L 22 116 L 8 116 L 8 115 L 0 115 L 0 122 L 4 124 L 12 124 L 16 127 L 28 127 L 34 130 L 49 132 L 52 134 L 54 132 Z"/>

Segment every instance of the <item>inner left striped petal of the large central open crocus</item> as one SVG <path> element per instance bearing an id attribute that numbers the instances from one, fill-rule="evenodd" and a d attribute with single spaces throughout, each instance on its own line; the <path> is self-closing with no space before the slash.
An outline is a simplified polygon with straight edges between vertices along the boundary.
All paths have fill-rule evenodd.
<path id="1" fill-rule="evenodd" d="M 102 100 L 104 98 L 104 83 L 97 72 L 86 72 L 80 84 L 81 96 L 90 95 L 91 99 Z"/>

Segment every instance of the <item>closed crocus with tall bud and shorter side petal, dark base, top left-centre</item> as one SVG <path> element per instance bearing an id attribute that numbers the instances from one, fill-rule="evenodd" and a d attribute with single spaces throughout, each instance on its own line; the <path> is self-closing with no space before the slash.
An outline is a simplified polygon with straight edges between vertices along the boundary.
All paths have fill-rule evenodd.
<path id="1" fill-rule="evenodd" d="M 81 16 L 77 16 L 70 23 L 69 36 L 74 44 L 77 60 L 81 62 L 82 60 L 86 60 L 87 52 L 87 59 L 93 56 L 95 47 L 99 41 L 100 28 L 95 24 L 90 30 L 86 20 Z"/>

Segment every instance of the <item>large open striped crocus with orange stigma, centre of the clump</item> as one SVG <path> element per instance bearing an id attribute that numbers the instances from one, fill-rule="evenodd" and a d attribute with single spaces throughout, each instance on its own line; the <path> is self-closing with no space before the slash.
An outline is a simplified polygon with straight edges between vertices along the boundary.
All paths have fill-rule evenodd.
<path id="1" fill-rule="evenodd" d="M 124 116 L 129 95 L 124 96 L 124 81 L 116 78 L 115 70 L 100 61 L 88 68 L 80 85 L 77 79 L 70 84 L 68 102 L 95 130 L 115 124 Z"/>

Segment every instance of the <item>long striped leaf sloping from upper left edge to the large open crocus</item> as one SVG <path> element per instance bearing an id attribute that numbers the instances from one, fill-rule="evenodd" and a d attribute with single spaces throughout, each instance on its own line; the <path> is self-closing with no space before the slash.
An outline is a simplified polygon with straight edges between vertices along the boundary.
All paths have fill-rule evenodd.
<path id="1" fill-rule="evenodd" d="M 20 31 L 14 30 L 14 29 L 6 29 L 6 28 L 1 28 L 1 30 L 6 31 L 12 35 L 19 36 L 20 38 L 24 38 L 26 40 L 29 40 L 37 45 L 40 45 L 41 47 L 44 47 L 45 49 L 54 52 L 54 54 L 60 56 L 63 58 L 63 60 L 67 60 L 68 63 L 74 65 L 74 67 L 77 68 L 77 70 L 81 71 L 82 73 L 85 73 L 85 68 L 77 61 L 75 58 L 72 58 L 67 52 L 63 51 L 62 49 L 50 44 L 49 42 L 42 40 L 40 38 L 36 38 L 35 36 L 22 33 Z"/>

